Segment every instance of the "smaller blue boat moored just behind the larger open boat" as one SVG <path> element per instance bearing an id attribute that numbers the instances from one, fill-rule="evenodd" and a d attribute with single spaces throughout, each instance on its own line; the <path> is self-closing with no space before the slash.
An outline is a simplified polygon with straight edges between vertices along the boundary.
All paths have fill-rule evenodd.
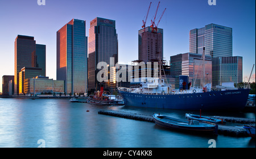
<path id="1" fill-rule="evenodd" d="M 199 120 L 200 122 L 210 122 L 210 123 L 216 123 L 216 124 L 223 124 L 226 123 L 223 119 L 216 119 L 216 118 L 210 118 L 208 116 L 200 116 L 195 114 L 185 114 L 185 117 L 190 120 Z"/>

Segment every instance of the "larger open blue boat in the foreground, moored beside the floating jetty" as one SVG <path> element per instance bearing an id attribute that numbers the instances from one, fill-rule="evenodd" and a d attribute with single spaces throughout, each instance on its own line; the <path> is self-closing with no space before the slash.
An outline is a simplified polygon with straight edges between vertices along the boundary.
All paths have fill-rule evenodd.
<path id="1" fill-rule="evenodd" d="M 181 120 L 176 118 L 171 118 L 169 116 L 154 114 L 154 121 L 156 125 L 160 125 L 167 128 L 178 129 L 188 132 L 218 132 L 218 125 L 213 123 L 199 122 L 197 120 Z"/>

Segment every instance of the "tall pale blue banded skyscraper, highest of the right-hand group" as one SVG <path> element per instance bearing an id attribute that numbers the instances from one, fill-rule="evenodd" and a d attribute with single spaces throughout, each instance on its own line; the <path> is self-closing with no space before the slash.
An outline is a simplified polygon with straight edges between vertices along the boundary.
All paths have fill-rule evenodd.
<path id="1" fill-rule="evenodd" d="M 212 57 L 232 56 L 232 28 L 208 24 L 189 32 L 189 52 Z"/>

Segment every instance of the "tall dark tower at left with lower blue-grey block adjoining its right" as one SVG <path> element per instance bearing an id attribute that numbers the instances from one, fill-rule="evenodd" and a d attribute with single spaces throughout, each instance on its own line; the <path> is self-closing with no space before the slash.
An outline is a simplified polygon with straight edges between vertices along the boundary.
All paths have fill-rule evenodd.
<path id="1" fill-rule="evenodd" d="M 39 45 L 38 45 L 39 46 Z M 36 49 L 36 41 L 32 36 L 18 35 L 14 42 L 14 94 L 19 94 L 19 72 L 24 67 L 42 66 L 43 73 L 46 74 L 46 49 Z M 38 50 L 38 55 L 36 54 Z M 36 57 L 38 56 L 38 60 Z M 37 63 L 38 62 L 38 63 Z"/>

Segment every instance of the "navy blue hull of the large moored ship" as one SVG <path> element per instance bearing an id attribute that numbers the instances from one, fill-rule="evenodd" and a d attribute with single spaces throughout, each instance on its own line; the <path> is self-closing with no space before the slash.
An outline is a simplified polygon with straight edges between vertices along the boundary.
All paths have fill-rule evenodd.
<path id="1" fill-rule="evenodd" d="M 249 89 L 209 91 L 205 93 L 151 95 L 120 91 L 126 106 L 175 110 L 241 111 Z"/>

